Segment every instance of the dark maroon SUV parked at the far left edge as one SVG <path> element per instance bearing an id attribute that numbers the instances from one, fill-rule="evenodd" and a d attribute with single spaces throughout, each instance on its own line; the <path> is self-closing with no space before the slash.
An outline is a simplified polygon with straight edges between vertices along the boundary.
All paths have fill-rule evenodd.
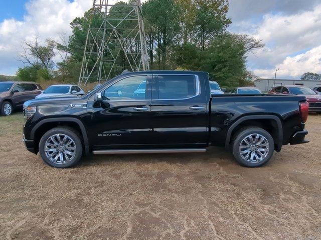
<path id="1" fill-rule="evenodd" d="M 2 115 L 11 115 L 13 110 L 22 109 L 25 101 L 34 99 L 42 91 L 35 82 L 0 82 L 0 106 Z"/>

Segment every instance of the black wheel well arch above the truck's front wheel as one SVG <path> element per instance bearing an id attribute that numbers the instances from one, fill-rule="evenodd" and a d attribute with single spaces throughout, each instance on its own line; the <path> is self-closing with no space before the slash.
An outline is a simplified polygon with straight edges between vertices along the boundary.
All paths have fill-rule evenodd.
<path id="1" fill-rule="evenodd" d="M 40 127 L 38 127 L 38 129 L 35 131 L 35 135 L 34 135 L 34 143 L 35 143 L 35 151 L 38 152 L 39 151 L 39 141 L 41 139 L 41 137 L 50 129 L 57 127 L 57 126 L 68 126 L 73 128 L 74 130 L 77 131 L 78 135 L 80 136 L 80 140 L 81 143 L 84 146 L 84 139 L 83 136 L 81 134 L 81 128 L 80 126 L 73 121 L 57 121 L 57 122 L 46 122 L 44 124 L 42 124 Z"/>

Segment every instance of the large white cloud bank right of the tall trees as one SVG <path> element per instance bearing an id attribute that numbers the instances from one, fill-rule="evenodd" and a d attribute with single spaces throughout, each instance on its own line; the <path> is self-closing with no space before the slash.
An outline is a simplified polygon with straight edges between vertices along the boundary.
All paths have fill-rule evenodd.
<path id="1" fill-rule="evenodd" d="M 248 57 L 249 68 L 259 76 L 274 76 L 273 69 L 277 67 L 280 67 L 278 76 L 294 78 L 307 69 L 320 71 L 311 66 L 319 64 L 321 4 L 287 15 L 284 12 L 266 13 L 259 22 L 243 20 L 236 23 L 233 30 L 253 35 L 266 43 L 264 49 Z M 295 64 L 296 60 L 301 64 Z M 309 66 L 303 64 L 305 61 Z"/>

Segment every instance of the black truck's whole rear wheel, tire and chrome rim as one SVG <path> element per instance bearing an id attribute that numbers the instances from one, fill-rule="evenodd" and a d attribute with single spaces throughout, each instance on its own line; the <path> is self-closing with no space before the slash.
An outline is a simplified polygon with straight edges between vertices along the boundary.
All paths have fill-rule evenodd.
<path id="1" fill-rule="evenodd" d="M 242 128 L 235 134 L 232 145 L 236 160 L 248 167 L 262 166 L 274 151 L 272 136 L 260 127 Z"/>

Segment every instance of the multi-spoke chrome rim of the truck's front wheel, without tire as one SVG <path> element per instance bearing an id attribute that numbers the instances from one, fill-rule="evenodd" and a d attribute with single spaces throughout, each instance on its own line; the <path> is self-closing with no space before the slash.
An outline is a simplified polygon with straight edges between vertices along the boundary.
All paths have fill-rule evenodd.
<path id="1" fill-rule="evenodd" d="M 66 134 L 54 134 L 46 140 L 45 153 L 56 164 L 66 164 L 76 155 L 76 144 Z"/>

